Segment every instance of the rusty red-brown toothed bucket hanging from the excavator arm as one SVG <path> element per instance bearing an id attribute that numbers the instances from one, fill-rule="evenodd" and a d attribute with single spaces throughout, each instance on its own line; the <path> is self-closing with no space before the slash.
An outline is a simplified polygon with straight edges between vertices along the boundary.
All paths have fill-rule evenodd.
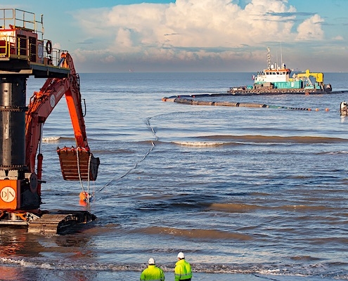
<path id="1" fill-rule="evenodd" d="M 99 158 L 84 148 L 57 148 L 65 181 L 96 181 Z"/>

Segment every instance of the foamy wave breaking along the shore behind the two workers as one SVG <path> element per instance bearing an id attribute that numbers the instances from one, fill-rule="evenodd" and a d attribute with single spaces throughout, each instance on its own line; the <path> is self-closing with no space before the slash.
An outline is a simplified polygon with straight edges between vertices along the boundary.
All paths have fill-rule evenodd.
<path id="1" fill-rule="evenodd" d="M 26 261 L 25 259 L 10 259 L 0 258 L 1 266 L 11 266 L 20 268 L 36 268 L 39 270 L 49 270 L 50 272 L 56 272 L 56 270 L 69 271 L 80 271 L 87 270 L 90 273 L 120 273 L 120 272 L 134 272 L 134 275 L 138 275 L 141 270 L 145 268 L 144 263 L 50 263 L 44 261 Z M 165 271 L 165 274 L 172 273 L 172 263 L 161 263 L 160 268 Z M 313 263 L 310 266 L 302 266 L 300 264 L 238 264 L 238 263 L 191 263 L 193 275 L 195 273 L 228 273 L 228 274 L 242 274 L 242 275 L 253 275 L 253 277 L 259 277 L 260 280 L 276 280 L 274 277 L 293 277 L 293 279 L 286 280 L 298 280 L 297 277 L 313 277 L 318 276 L 320 278 L 333 278 L 333 280 L 348 280 L 347 273 L 343 272 L 340 274 L 333 273 L 330 270 L 330 263 Z M 233 279 L 234 280 L 234 279 Z M 247 280 L 247 279 L 243 279 Z M 252 279 L 254 280 L 254 279 Z M 283 280 L 283 279 L 282 279 Z M 302 279 L 300 279 L 302 280 Z"/>

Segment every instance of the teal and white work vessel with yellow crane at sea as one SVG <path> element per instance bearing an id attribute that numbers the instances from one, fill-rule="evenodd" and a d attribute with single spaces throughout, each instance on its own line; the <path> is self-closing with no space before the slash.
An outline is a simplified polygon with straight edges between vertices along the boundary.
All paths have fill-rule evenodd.
<path id="1" fill-rule="evenodd" d="M 267 48 L 268 67 L 253 75 L 254 84 L 251 86 L 231 87 L 227 92 L 233 95 L 258 95 L 279 93 L 328 93 L 332 91 L 330 84 L 324 84 L 323 73 L 313 73 L 306 70 L 304 73 L 294 73 L 281 62 L 271 65 L 270 50 Z M 315 81 L 311 81 L 314 77 Z"/>

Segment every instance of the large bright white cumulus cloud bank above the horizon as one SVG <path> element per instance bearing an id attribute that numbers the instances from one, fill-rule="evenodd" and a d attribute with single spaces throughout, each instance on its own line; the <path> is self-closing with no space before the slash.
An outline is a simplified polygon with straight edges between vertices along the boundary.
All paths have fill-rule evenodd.
<path id="1" fill-rule="evenodd" d="M 288 0 L 251 0 L 241 8 L 231 0 L 176 0 L 171 4 L 132 4 L 84 10 L 75 17 L 98 44 L 84 48 L 99 60 L 198 61 L 264 60 L 266 42 L 323 39 L 319 15 L 295 31 L 296 9 Z M 262 48 L 251 54 L 243 46 Z M 240 52 L 243 48 L 243 52 Z M 82 49 L 79 55 L 83 55 Z M 86 55 L 90 52 L 86 52 Z M 100 56 L 105 56 L 101 58 Z M 108 58 L 108 59 L 107 59 Z"/>

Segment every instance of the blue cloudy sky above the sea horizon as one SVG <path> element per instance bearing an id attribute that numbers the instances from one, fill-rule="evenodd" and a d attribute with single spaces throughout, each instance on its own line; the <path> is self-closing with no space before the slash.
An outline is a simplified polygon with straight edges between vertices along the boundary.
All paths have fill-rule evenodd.
<path id="1" fill-rule="evenodd" d="M 44 15 L 77 72 L 348 72 L 348 0 L 0 0 Z"/>

